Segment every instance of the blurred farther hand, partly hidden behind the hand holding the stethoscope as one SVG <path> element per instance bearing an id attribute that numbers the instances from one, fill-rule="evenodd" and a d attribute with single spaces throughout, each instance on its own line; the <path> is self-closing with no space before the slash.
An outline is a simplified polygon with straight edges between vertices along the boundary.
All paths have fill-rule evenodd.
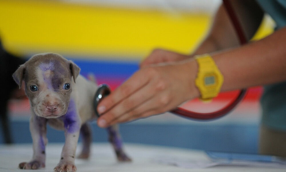
<path id="1" fill-rule="evenodd" d="M 190 58 L 189 55 L 178 54 L 176 52 L 163 50 L 163 49 L 155 49 L 151 52 L 151 54 L 145 58 L 141 64 L 140 68 L 145 67 L 150 64 L 158 64 L 162 62 L 175 62 L 186 60 Z"/>

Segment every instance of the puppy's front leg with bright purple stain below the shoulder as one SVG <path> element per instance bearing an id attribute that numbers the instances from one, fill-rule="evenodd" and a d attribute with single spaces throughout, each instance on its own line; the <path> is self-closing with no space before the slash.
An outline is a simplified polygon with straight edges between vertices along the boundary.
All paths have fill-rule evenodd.
<path id="1" fill-rule="evenodd" d="M 74 165 L 76 146 L 80 135 L 81 120 L 78 115 L 75 103 L 71 101 L 67 113 L 62 117 L 65 128 L 65 145 L 61 152 L 61 160 L 54 171 L 76 171 Z"/>

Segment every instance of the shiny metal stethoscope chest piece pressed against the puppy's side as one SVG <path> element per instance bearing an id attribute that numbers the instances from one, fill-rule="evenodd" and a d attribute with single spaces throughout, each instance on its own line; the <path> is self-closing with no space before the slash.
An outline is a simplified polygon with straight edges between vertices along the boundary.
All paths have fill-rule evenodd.
<path id="1" fill-rule="evenodd" d="M 99 102 L 106 96 L 108 96 L 111 93 L 110 88 L 106 84 L 101 84 L 98 86 L 98 89 L 94 95 L 94 100 L 93 100 L 93 107 L 94 107 L 94 112 L 97 117 L 100 116 L 100 114 L 97 112 L 97 107 Z"/>

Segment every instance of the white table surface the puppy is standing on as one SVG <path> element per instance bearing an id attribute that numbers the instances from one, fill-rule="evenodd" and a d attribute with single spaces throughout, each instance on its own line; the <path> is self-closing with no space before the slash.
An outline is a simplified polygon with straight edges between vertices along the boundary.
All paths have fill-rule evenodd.
<path id="1" fill-rule="evenodd" d="M 18 164 L 29 161 L 32 156 L 31 144 L 14 144 L 10 146 L 0 145 L 0 172 L 36 172 L 53 171 L 59 162 L 61 148 L 63 144 L 48 144 L 46 147 L 46 167 L 39 170 L 21 170 Z M 176 165 L 167 165 L 158 163 L 158 159 L 180 159 L 184 162 L 209 161 L 203 151 L 181 149 L 173 147 L 151 146 L 141 144 L 125 144 L 124 148 L 127 154 L 132 158 L 132 162 L 120 163 L 116 161 L 113 149 L 110 144 L 94 143 L 92 145 L 92 154 L 88 160 L 76 159 L 78 172 L 181 172 L 181 171 L 209 171 L 209 172 L 232 172 L 232 171 L 259 171 L 259 172 L 285 172 L 284 167 L 250 167 L 245 165 L 218 165 L 208 168 L 183 168 Z M 80 150 L 80 145 L 78 146 Z"/>

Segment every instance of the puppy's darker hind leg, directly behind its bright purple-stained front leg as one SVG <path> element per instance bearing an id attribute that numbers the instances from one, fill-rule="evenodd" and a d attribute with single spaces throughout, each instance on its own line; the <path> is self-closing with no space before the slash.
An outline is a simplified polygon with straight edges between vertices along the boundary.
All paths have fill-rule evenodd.
<path id="1" fill-rule="evenodd" d="M 80 128 L 80 135 L 82 136 L 82 152 L 78 156 L 80 159 L 88 159 L 90 156 L 90 145 L 92 142 L 92 135 L 90 125 L 85 123 Z"/>

